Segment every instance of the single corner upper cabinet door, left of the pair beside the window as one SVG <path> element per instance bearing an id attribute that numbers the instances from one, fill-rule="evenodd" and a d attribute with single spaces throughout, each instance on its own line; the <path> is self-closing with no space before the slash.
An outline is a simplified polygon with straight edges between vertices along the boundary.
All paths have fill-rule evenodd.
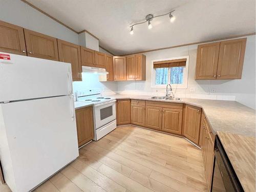
<path id="1" fill-rule="evenodd" d="M 126 60 L 125 57 L 113 56 L 114 81 L 126 80 Z"/>

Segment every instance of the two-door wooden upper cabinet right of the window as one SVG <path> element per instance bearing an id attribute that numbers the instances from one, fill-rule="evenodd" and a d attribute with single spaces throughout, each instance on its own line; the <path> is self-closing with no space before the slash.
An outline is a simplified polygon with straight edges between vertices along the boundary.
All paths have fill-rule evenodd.
<path id="1" fill-rule="evenodd" d="M 195 79 L 241 79 L 246 38 L 199 45 Z"/>

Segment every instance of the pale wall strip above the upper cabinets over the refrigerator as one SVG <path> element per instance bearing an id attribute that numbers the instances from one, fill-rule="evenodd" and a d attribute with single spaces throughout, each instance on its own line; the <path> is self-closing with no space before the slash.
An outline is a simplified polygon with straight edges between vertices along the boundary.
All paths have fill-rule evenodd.
<path id="1" fill-rule="evenodd" d="M 0 0 L 0 20 L 78 44 L 77 33 L 19 0 Z"/>

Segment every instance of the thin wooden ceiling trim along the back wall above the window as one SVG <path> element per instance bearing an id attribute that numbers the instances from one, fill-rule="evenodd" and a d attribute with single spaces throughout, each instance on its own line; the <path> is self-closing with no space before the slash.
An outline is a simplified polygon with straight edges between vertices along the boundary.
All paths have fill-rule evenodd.
<path id="1" fill-rule="evenodd" d="M 226 39 L 250 36 L 250 35 L 255 35 L 255 34 L 256 33 L 254 32 L 254 33 L 247 33 L 247 34 L 243 34 L 243 35 L 236 35 L 236 36 L 223 37 L 223 38 L 217 38 L 217 39 L 211 39 L 211 40 L 205 40 L 205 41 L 191 42 L 190 44 L 182 44 L 182 45 L 171 46 L 171 47 L 164 47 L 164 48 L 159 48 L 159 49 L 145 50 L 145 51 L 134 52 L 134 53 L 129 53 L 129 54 L 125 54 L 125 55 L 119 55 L 119 56 L 133 55 L 133 54 L 146 53 L 146 52 L 152 52 L 152 51 L 160 51 L 160 50 L 165 50 L 165 49 L 172 49 L 172 48 L 183 47 L 183 46 L 191 46 L 191 45 L 196 45 L 196 44 L 204 44 L 206 42 L 212 42 L 212 41 L 218 41 L 218 40 L 226 40 Z"/>

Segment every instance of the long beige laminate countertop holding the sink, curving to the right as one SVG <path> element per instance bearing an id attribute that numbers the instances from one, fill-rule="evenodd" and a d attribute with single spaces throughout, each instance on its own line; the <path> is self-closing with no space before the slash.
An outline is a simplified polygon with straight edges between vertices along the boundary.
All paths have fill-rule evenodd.
<path id="1" fill-rule="evenodd" d="M 116 99 L 143 99 L 162 102 L 178 102 L 199 106 L 210 124 L 214 134 L 217 132 L 234 133 L 255 137 L 255 110 L 237 101 L 190 99 L 181 98 L 181 101 L 151 99 L 148 95 L 110 95 Z"/>

